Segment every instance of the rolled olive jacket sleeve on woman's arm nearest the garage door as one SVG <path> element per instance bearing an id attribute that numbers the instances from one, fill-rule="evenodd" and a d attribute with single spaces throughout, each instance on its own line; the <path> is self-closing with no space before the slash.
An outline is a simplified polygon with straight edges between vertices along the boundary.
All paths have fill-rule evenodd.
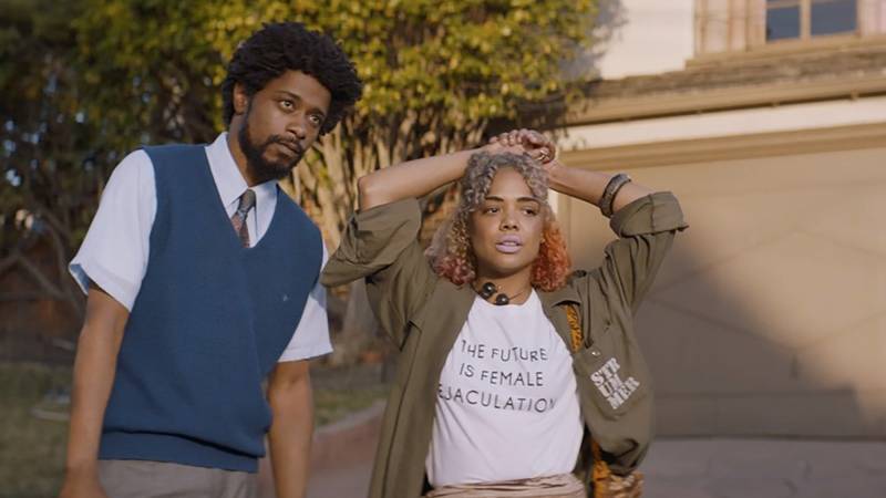
<path id="1" fill-rule="evenodd" d="M 606 247 L 600 268 L 576 284 L 598 286 L 610 308 L 617 305 L 632 314 L 652 286 L 674 235 L 688 225 L 673 194 L 662 191 L 622 207 L 609 226 L 618 239 Z M 589 295 L 585 290 L 583 293 Z"/>

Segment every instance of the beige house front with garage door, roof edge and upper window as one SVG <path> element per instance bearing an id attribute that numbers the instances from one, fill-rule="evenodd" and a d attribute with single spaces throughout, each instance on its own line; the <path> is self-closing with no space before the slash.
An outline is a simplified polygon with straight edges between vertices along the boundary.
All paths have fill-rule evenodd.
<path id="1" fill-rule="evenodd" d="M 663 435 L 886 436 L 886 0 L 601 1 L 562 157 L 690 224 L 639 314 Z M 559 197 L 576 266 L 612 238 Z"/>

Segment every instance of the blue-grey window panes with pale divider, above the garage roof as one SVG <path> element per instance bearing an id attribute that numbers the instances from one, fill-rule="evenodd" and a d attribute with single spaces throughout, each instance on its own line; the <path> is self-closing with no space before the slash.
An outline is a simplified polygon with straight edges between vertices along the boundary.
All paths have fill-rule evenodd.
<path id="1" fill-rule="evenodd" d="M 766 42 L 854 33 L 859 0 L 766 0 Z"/>

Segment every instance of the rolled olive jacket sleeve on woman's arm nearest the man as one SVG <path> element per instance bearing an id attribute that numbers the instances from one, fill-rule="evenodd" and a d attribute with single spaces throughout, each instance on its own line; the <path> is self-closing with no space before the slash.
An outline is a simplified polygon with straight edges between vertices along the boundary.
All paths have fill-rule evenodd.
<path id="1" fill-rule="evenodd" d="M 419 245 L 420 229 L 415 199 L 354 214 L 321 277 L 327 287 L 364 278 L 372 311 L 399 347 L 437 279 Z"/>

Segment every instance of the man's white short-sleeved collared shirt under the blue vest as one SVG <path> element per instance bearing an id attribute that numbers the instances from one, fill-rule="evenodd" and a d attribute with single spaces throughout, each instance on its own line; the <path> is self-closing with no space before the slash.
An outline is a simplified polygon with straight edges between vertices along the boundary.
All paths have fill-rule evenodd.
<path id="1" fill-rule="evenodd" d="M 228 216 L 233 216 L 248 185 L 230 155 L 226 133 L 206 146 L 206 158 L 219 200 Z M 266 181 L 253 187 L 253 190 L 256 193 L 256 206 L 247 215 L 246 227 L 249 242 L 255 246 L 265 236 L 274 218 L 277 181 Z M 136 151 L 127 155 L 111 174 L 86 238 L 69 266 L 83 292 L 86 292 L 92 280 L 127 310 L 132 310 L 147 270 L 151 228 L 156 214 L 154 165 L 144 151 Z M 323 264 L 326 260 L 323 248 Z M 331 351 L 326 289 L 318 279 L 279 361 L 306 360 Z"/>

